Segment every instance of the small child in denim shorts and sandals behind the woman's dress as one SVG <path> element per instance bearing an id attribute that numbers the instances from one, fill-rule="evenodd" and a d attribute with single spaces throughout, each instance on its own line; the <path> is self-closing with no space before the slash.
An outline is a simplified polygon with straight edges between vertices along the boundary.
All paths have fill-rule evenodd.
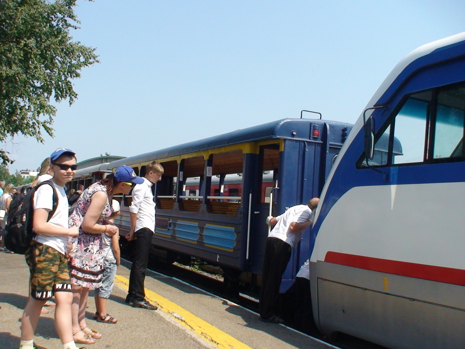
<path id="1" fill-rule="evenodd" d="M 113 214 L 109 220 L 113 223 L 114 219 L 120 214 L 120 203 L 112 201 Z M 95 289 L 93 295 L 95 298 L 95 308 L 97 312 L 93 316 L 98 322 L 116 323 L 118 320 L 106 312 L 106 300 L 110 297 L 113 290 L 116 269 L 120 265 L 120 242 L 119 236 L 108 236 L 102 234 L 103 255 L 105 255 L 105 270 L 103 271 L 102 286 Z"/>

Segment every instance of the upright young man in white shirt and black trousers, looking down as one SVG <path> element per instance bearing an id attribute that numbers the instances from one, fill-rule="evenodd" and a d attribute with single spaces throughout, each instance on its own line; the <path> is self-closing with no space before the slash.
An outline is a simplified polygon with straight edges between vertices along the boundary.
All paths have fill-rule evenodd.
<path id="1" fill-rule="evenodd" d="M 157 309 L 145 299 L 144 280 L 152 235 L 155 231 L 155 202 L 152 185 L 161 179 L 163 172 L 163 167 L 157 161 L 146 165 L 144 182 L 136 184 L 133 188 L 133 202 L 129 207 L 131 232 L 126 235 L 126 239 L 129 241 L 136 239 L 136 247 L 126 303 L 132 303 L 136 308 Z"/>

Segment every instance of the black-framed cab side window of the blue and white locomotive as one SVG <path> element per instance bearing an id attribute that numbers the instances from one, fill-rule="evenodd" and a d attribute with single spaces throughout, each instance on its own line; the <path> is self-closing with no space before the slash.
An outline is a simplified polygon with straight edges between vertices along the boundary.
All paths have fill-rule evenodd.
<path id="1" fill-rule="evenodd" d="M 464 160 L 465 82 L 407 96 L 378 132 L 373 160 L 358 167 Z"/>

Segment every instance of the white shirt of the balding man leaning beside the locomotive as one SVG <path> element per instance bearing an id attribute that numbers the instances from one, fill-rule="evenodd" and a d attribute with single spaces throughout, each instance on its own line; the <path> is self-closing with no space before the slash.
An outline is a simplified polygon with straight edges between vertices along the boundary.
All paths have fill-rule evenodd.
<path id="1" fill-rule="evenodd" d="M 289 226 L 292 222 L 302 223 L 308 221 L 311 213 L 312 210 L 307 205 L 292 206 L 285 213 L 276 217 L 278 223 L 268 234 L 268 237 L 277 237 L 295 248 L 305 229 L 292 233 L 289 231 Z"/>

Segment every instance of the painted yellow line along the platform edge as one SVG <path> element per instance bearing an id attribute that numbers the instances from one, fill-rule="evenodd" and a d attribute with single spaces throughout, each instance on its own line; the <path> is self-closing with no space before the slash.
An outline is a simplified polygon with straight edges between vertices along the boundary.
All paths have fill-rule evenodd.
<path id="1" fill-rule="evenodd" d="M 126 291 L 129 288 L 129 280 L 121 275 L 116 275 L 115 283 Z M 145 289 L 146 299 L 158 303 L 158 310 L 162 311 L 175 322 L 187 330 L 193 332 L 206 342 L 220 349 L 252 349 L 243 342 L 239 342 L 236 338 L 228 335 L 226 332 L 217 329 L 210 323 L 200 319 L 199 317 L 181 308 L 178 304 L 171 302 L 165 297 Z"/>

